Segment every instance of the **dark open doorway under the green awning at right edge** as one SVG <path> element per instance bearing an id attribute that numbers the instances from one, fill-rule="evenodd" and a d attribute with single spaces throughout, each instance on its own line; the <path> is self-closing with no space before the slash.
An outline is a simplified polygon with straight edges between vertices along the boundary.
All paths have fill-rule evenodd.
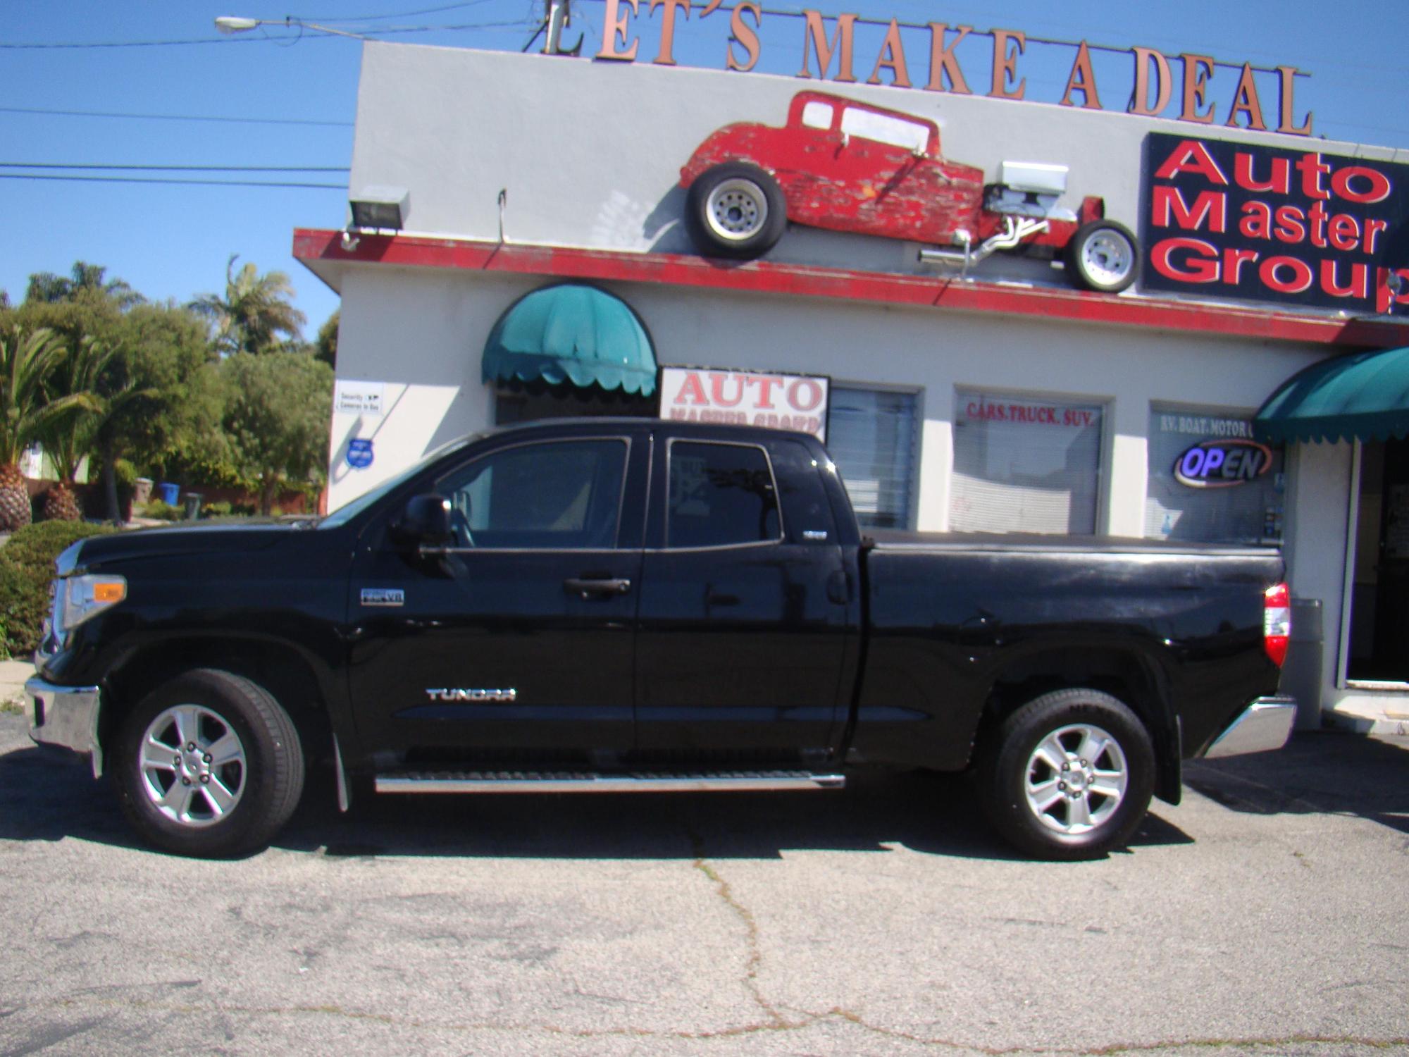
<path id="1" fill-rule="evenodd" d="M 1409 684 L 1409 440 L 1361 445 L 1351 682 Z"/>

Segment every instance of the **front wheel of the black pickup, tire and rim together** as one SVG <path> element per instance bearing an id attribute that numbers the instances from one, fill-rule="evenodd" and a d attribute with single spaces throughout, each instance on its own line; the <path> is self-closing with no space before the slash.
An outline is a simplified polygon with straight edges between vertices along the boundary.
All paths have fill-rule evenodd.
<path id="1" fill-rule="evenodd" d="M 303 748 L 289 715 L 262 686 L 216 668 L 147 695 L 124 717 L 111 760 L 128 822 L 179 855 L 262 848 L 303 792 Z"/>

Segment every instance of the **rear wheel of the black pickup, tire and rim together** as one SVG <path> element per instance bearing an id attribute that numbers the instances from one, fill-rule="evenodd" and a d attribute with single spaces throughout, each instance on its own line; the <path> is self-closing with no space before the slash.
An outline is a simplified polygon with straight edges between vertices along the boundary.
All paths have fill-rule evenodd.
<path id="1" fill-rule="evenodd" d="M 1109 693 L 1044 693 L 999 726 L 979 784 L 989 820 L 1016 848 L 1100 858 L 1126 846 L 1150 808 L 1150 731 Z"/>

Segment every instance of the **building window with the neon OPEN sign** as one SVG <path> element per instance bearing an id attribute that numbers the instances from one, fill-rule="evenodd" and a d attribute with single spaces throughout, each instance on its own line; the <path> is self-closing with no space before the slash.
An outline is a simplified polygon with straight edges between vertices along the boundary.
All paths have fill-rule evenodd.
<path id="1" fill-rule="evenodd" d="M 1146 537 L 1281 541 L 1282 448 L 1253 438 L 1251 416 L 1151 404 L 1147 447 Z"/>

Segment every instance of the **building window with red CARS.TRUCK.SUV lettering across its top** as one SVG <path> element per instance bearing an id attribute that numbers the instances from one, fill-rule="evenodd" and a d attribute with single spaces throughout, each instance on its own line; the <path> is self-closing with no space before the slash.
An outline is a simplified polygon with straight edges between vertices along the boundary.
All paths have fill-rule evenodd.
<path id="1" fill-rule="evenodd" d="M 951 530 L 1096 531 L 1100 404 L 961 392 L 957 410 Z"/>

